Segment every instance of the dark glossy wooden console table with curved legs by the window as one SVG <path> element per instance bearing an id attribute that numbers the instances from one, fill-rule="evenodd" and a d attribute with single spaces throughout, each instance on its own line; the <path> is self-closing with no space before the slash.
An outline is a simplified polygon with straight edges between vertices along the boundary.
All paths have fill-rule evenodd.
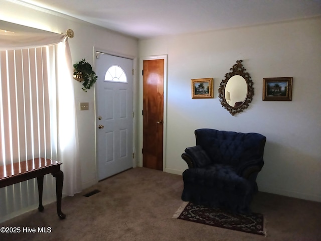
<path id="1" fill-rule="evenodd" d="M 56 178 L 57 213 L 60 219 L 66 215 L 61 211 L 62 186 L 64 173 L 60 170 L 61 162 L 46 158 L 35 158 L 32 160 L 0 166 L 0 188 L 13 185 L 37 177 L 39 207 L 42 212 L 42 193 L 44 185 L 44 175 L 51 173 Z"/>

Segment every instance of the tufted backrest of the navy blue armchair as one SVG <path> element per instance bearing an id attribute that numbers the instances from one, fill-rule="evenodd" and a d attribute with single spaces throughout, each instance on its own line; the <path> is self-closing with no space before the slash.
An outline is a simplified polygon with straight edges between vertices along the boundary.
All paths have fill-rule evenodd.
<path id="1" fill-rule="evenodd" d="M 198 129 L 195 136 L 196 145 L 204 149 L 213 163 L 231 165 L 238 169 L 248 160 L 260 159 L 263 162 L 266 137 L 261 134 Z"/>

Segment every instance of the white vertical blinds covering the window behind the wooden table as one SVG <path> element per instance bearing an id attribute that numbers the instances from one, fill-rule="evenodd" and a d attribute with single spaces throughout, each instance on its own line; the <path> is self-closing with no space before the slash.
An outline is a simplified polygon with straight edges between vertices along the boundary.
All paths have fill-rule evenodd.
<path id="1" fill-rule="evenodd" d="M 55 46 L 0 51 L 0 165 L 35 157 L 57 160 Z M 44 200 L 55 181 L 44 178 Z M 38 206 L 37 180 L 0 189 L 1 218 Z"/>

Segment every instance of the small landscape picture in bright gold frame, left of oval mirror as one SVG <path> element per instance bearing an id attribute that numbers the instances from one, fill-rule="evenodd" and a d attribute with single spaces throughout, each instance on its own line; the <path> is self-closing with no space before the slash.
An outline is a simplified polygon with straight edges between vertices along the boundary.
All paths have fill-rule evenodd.
<path id="1" fill-rule="evenodd" d="M 192 99 L 213 98 L 213 78 L 191 79 Z"/>

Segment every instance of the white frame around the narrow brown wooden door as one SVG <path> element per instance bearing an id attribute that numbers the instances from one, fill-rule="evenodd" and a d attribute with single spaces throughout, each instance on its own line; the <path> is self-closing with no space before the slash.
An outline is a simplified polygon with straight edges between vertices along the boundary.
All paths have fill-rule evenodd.
<path id="1" fill-rule="evenodd" d="M 143 109 L 143 61 L 144 60 L 156 60 L 156 59 L 164 59 L 164 96 L 163 96 L 163 172 L 167 172 L 166 169 L 166 127 L 167 127 L 167 55 L 155 55 L 155 56 L 143 56 L 139 61 L 139 102 L 138 102 L 138 143 L 137 143 L 137 164 L 139 167 L 142 167 L 142 139 L 143 139 L 143 118 L 142 118 L 142 109 Z"/>

